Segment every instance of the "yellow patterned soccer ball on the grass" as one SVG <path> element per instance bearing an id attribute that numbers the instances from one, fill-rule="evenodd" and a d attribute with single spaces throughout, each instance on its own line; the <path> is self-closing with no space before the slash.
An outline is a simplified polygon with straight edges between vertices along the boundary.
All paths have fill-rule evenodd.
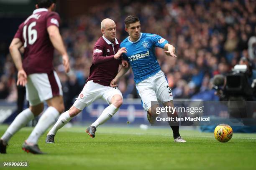
<path id="1" fill-rule="evenodd" d="M 220 142 L 228 142 L 233 135 L 233 130 L 230 125 L 227 124 L 220 124 L 216 126 L 214 130 L 215 139 Z"/>

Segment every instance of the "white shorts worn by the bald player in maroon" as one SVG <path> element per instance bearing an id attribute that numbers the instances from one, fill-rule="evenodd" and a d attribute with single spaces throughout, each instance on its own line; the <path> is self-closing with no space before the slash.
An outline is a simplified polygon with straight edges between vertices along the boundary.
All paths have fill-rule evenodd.
<path id="1" fill-rule="evenodd" d="M 84 107 L 90 105 L 93 101 L 99 98 L 102 98 L 108 102 L 108 104 L 111 104 L 111 99 L 114 95 L 123 97 L 117 87 L 100 85 L 91 80 L 84 85 L 82 92 L 77 97 L 73 106 L 79 110 L 83 110 Z"/>

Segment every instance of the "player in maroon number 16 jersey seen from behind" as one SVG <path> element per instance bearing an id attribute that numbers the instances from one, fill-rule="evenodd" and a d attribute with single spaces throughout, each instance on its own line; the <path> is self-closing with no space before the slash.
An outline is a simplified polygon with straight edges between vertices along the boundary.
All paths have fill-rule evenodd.
<path id="1" fill-rule="evenodd" d="M 18 69 L 17 85 L 26 86 L 30 106 L 13 120 L 2 136 L 1 153 L 6 153 L 6 145 L 12 136 L 44 110 L 46 101 L 49 107 L 22 146 L 26 152 L 41 154 L 37 145 L 39 137 L 64 111 L 61 83 L 52 63 L 54 48 L 61 53 L 66 72 L 69 72 L 69 57 L 59 33 L 59 15 L 53 12 L 55 0 L 37 0 L 36 8 L 19 26 L 10 44 L 10 54 Z M 23 61 L 20 48 L 24 48 Z"/>

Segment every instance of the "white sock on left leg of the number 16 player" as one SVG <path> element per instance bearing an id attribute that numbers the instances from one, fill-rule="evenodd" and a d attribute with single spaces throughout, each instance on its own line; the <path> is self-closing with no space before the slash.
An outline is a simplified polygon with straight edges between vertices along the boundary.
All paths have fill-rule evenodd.
<path id="1" fill-rule="evenodd" d="M 23 128 L 30 120 L 33 120 L 34 115 L 29 108 L 23 110 L 15 117 L 9 128 L 5 131 L 2 136 L 4 143 L 8 143 L 10 138 L 21 128 Z"/>

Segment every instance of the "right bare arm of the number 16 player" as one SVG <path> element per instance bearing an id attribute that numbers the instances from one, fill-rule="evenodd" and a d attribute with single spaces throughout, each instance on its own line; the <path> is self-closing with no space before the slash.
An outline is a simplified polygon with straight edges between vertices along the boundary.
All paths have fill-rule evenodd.
<path id="1" fill-rule="evenodd" d="M 64 42 L 63 42 L 62 37 L 59 33 L 59 28 L 56 27 L 55 25 L 51 25 L 47 28 L 47 32 L 49 34 L 52 45 L 62 55 L 63 65 L 65 67 L 65 72 L 69 72 L 69 70 L 70 70 L 69 56 L 67 55 L 67 51 L 66 51 L 66 48 L 64 46 Z"/>

